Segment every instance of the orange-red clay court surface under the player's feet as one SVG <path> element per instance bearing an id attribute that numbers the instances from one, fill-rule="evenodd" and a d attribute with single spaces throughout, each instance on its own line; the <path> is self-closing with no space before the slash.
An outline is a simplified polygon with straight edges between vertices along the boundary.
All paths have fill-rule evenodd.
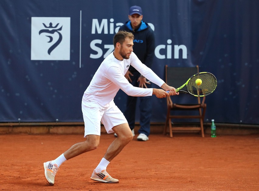
<path id="1" fill-rule="evenodd" d="M 99 147 L 60 166 L 55 185 L 44 177 L 43 162 L 55 159 L 83 135 L 0 135 L 0 190 L 259 190 L 259 135 L 154 134 L 136 136 L 114 158 L 107 172 L 119 179 L 90 179 L 113 134 Z"/>

